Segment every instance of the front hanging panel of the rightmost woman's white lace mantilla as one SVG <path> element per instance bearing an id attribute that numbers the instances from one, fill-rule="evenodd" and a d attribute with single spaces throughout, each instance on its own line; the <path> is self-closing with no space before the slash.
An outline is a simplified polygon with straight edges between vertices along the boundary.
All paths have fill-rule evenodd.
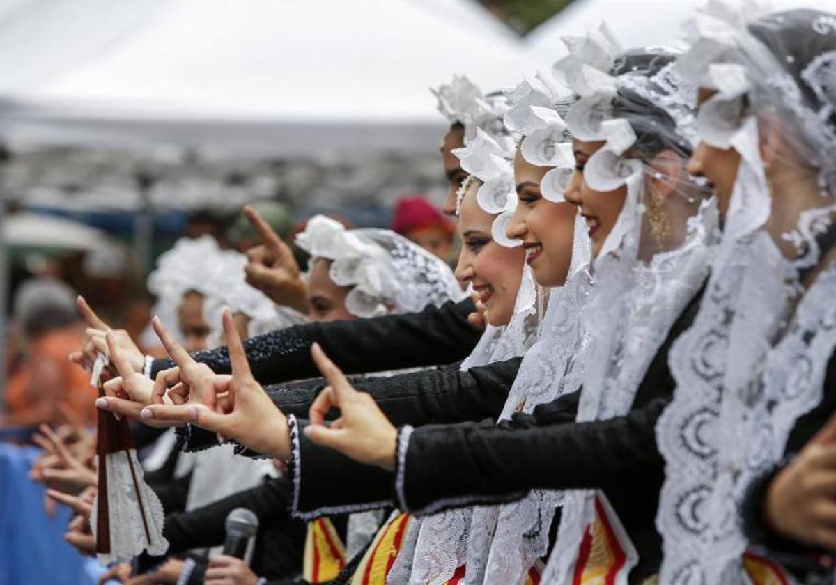
<path id="1" fill-rule="evenodd" d="M 700 310 L 670 350 L 676 389 L 656 426 L 666 464 L 656 517 L 665 582 L 745 582 L 737 476 L 754 438 L 730 421 L 754 413 L 758 373 L 797 290 L 790 263 L 762 230 L 770 201 L 753 120 L 732 142 L 743 160 L 726 227 Z"/>

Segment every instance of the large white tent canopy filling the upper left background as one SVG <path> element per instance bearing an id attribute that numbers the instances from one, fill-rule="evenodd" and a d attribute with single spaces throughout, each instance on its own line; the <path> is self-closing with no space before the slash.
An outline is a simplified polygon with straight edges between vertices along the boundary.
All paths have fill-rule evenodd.
<path id="1" fill-rule="evenodd" d="M 107 13 L 107 26 L 122 33 L 114 38 L 93 26 L 90 34 L 104 43 L 98 51 L 89 39 L 80 48 L 56 46 L 50 27 L 60 28 L 68 4 L 88 25 L 90 13 Z M 474 26 L 487 15 L 472 0 L 106 5 L 38 3 L 17 22 L 12 15 L 0 23 L 0 33 L 13 33 L 0 34 L 0 55 L 7 38 L 18 39 L 16 69 L 32 61 L 32 69 L 45 71 L 42 80 L 18 84 L 0 74 L 6 140 L 162 143 L 237 155 L 428 150 L 437 147 L 443 128 L 430 86 L 466 73 L 486 89 L 506 87 L 538 66 L 498 25 Z M 73 26 L 73 38 L 83 37 Z M 21 49 L 19 39 L 33 27 L 41 42 Z M 54 74 L 60 59 L 38 50 L 76 52 L 79 63 L 62 64 L 64 72 Z"/>

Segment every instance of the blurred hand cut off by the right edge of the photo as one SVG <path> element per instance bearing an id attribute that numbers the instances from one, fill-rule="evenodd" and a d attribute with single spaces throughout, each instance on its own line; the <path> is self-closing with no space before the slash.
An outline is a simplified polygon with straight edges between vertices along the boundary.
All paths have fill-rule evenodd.
<path id="1" fill-rule="evenodd" d="M 782 537 L 836 551 L 836 415 L 772 478 L 763 516 Z"/>

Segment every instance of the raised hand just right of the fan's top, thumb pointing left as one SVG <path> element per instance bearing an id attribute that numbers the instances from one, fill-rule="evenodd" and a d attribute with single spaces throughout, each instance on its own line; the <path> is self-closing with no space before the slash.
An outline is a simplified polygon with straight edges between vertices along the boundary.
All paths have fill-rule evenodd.
<path id="1" fill-rule="evenodd" d="M 117 418 L 123 415 L 139 418 L 142 409 L 151 404 L 155 383 L 134 371 L 111 333 L 107 333 L 105 338 L 110 361 L 119 376 L 104 383 L 104 396 L 96 400 L 96 407 L 114 413 Z M 171 426 L 153 420 L 145 422 L 155 426 Z"/>

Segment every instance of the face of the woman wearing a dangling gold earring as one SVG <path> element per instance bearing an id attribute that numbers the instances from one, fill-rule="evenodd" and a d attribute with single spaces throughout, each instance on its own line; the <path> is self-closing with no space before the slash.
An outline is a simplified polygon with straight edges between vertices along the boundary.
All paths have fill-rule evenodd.
<path id="1" fill-rule="evenodd" d="M 584 216 L 592 243 L 592 256 L 596 257 L 619 219 L 624 199 L 627 197 L 627 187 L 621 186 L 614 191 L 591 189 L 584 180 L 584 167 L 604 143 L 573 140 L 572 145 L 575 170 L 563 196 L 566 197 L 566 201 L 578 206 L 580 215 Z"/>

